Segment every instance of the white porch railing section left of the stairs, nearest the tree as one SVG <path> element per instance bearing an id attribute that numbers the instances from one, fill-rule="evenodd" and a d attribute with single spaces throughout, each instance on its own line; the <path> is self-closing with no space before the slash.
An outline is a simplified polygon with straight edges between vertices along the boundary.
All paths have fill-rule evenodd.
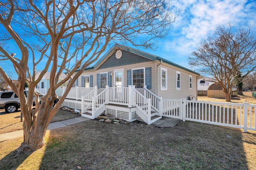
<path id="1" fill-rule="evenodd" d="M 95 87 L 72 87 L 70 91 L 68 92 L 68 95 L 66 98 L 68 99 L 76 99 L 76 100 L 82 100 L 82 96 L 86 96 L 88 93 L 94 91 Z M 63 93 L 66 91 L 66 87 L 63 87 Z M 62 93 L 62 94 L 63 94 Z"/>

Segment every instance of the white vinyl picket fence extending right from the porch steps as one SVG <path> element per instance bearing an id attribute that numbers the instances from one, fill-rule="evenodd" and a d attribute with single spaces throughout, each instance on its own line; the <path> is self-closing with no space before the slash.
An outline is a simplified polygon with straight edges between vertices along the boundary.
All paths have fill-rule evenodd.
<path id="1" fill-rule="evenodd" d="M 163 99 L 163 116 L 221 125 L 247 130 L 256 130 L 256 105 L 208 101 Z"/>

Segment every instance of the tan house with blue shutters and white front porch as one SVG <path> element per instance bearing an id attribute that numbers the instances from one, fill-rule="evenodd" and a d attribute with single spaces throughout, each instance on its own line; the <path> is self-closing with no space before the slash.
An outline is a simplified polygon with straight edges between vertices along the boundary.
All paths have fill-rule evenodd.
<path id="1" fill-rule="evenodd" d="M 63 105 L 80 109 L 91 119 L 105 113 L 151 124 L 167 108 L 175 109 L 171 99 L 197 96 L 198 75 L 164 58 L 115 44 L 84 70 Z"/>

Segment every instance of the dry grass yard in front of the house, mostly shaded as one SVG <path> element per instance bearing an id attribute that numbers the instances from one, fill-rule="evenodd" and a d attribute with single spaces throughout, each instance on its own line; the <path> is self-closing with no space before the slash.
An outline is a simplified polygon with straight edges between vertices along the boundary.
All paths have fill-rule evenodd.
<path id="1" fill-rule="evenodd" d="M 232 101 L 256 103 L 245 95 Z M 48 130 L 46 141 L 32 152 L 16 150 L 22 138 L 1 142 L 0 169 L 256 169 L 255 131 L 192 121 L 158 128 L 90 120 Z"/>

